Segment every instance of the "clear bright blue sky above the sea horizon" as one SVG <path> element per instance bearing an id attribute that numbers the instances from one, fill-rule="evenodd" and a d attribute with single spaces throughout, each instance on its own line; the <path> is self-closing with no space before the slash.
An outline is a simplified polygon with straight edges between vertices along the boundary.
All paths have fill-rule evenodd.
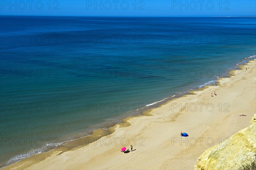
<path id="1" fill-rule="evenodd" d="M 255 0 L 0 0 L 1 15 L 256 16 Z"/>

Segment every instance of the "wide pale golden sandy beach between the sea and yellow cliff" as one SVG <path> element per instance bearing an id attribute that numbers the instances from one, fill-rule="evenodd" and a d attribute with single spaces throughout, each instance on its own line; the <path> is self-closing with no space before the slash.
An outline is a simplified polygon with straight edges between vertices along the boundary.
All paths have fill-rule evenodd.
<path id="1" fill-rule="evenodd" d="M 192 170 L 204 150 L 249 125 L 256 110 L 255 62 L 240 65 L 229 78 L 219 79 L 217 86 L 205 86 L 144 115 L 129 117 L 112 127 L 113 133 L 90 144 L 69 150 L 59 147 L 3 169 Z M 181 131 L 189 136 L 180 137 Z M 99 133 L 89 136 L 88 143 Z M 130 145 L 132 152 L 120 152 L 122 147 L 131 150 Z"/>

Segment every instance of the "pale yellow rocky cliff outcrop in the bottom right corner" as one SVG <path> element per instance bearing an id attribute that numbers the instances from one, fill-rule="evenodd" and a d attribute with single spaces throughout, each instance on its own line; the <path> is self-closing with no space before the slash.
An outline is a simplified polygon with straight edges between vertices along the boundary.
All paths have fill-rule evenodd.
<path id="1" fill-rule="evenodd" d="M 256 114 L 250 121 L 249 127 L 240 130 L 229 140 L 204 151 L 198 158 L 195 170 L 241 170 L 251 167 L 255 160 Z"/>

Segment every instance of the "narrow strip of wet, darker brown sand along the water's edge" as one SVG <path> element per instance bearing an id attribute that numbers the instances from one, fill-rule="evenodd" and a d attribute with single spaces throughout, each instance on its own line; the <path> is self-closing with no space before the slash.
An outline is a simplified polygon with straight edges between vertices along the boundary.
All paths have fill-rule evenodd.
<path id="1" fill-rule="evenodd" d="M 252 57 L 255 57 L 255 56 L 252 56 Z M 248 61 L 248 58 L 245 58 L 243 61 L 247 61 L 247 63 L 246 64 L 241 63 L 237 66 L 237 69 L 230 70 L 229 75 L 228 75 L 227 78 L 231 78 L 233 75 L 236 75 L 237 70 L 242 69 L 244 67 L 244 65 L 247 65 L 251 62 L 251 60 Z M 243 62 L 243 61 L 241 61 L 241 62 Z M 81 137 L 81 138 L 76 139 L 74 141 L 70 141 L 65 145 L 59 145 L 57 148 L 55 148 L 53 150 L 50 150 L 48 152 L 33 155 L 33 156 L 30 156 L 29 158 L 24 158 L 20 161 L 17 161 L 13 164 L 10 164 L 10 165 L 6 166 L 6 167 L 2 167 L 2 169 L 8 168 L 8 167 L 15 167 L 14 165 L 16 165 L 16 164 L 19 167 L 19 164 L 22 165 L 23 162 L 26 162 L 26 161 L 38 163 L 38 161 L 43 161 L 44 159 L 49 158 L 50 156 L 54 155 L 54 153 L 56 153 L 56 152 L 58 153 L 57 155 L 61 155 L 62 153 L 65 153 L 65 152 L 68 152 L 68 151 L 75 152 L 79 148 L 87 147 L 88 145 L 92 144 L 95 141 L 98 141 L 101 138 L 111 136 L 113 133 L 117 132 L 117 130 L 119 130 L 122 127 L 130 127 L 130 125 L 133 125 L 132 123 L 130 123 L 131 119 L 134 119 L 134 118 L 137 119 L 137 118 L 141 118 L 141 117 L 144 117 L 144 116 L 146 116 L 146 117 L 147 116 L 152 116 L 152 114 L 151 114 L 152 110 L 163 107 L 165 105 L 168 105 L 172 101 L 179 100 L 181 98 L 186 98 L 189 95 L 195 95 L 196 93 L 204 91 L 205 89 L 208 89 L 211 86 L 219 86 L 221 84 L 220 81 L 223 80 L 223 79 L 225 79 L 225 78 L 218 78 L 218 80 L 215 81 L 215 85 L 212 85 L 212 84 L 205 85 L 205 86 L 203 86 L 201 88 L 198 88 L 198 89 L 194 89 L 194 90 L 191 89 L 189 92 L 187 92 L 185 94 L 181 94 L 180 96 L 177 95 L 177 97 L 175 96 L 176 98 L 170 97 L 171 98 L 170 100 L 168 100 L 168 98 L 165 98 L 165 99 L 167 99 L 167 101 L 165 101 L 165 99 L 164 99 L 162 101 L 154 102 L 155 104 L 152 105 L 152 108 L 149 108 L 146 111 L 143 111 L 143 113 L 141 115 L 128 116 L 127 118 L 122 119 L 121 123 L 117 123 L 115 126 L 110 127 L 108 130 L 104 130 L 104 129 L 94 130 L 93 134 L 91 134 L 91 135 L 87 135 L 85 137 Z M 151 104 L 148 104 L 148 105 L 151 106 Z M 178 116 L 179 115 L 175 115 L 174 117 L 178 117 Z M 89 139 L 91 139 L 91 138 L 95 138 L 95 140 L 90 141 Z M 29 160 L 29 159 L 31 159 L 31 160 Z"/>

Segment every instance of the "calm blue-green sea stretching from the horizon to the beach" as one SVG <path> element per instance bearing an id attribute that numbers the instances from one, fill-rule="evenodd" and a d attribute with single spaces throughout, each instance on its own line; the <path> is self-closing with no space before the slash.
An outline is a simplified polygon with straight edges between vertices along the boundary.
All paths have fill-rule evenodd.
<path id="1" fill-rule="evenodd" d="M 255 44 L 255 17 L 0 16 L 0 166 L 214 84 Z"/>

